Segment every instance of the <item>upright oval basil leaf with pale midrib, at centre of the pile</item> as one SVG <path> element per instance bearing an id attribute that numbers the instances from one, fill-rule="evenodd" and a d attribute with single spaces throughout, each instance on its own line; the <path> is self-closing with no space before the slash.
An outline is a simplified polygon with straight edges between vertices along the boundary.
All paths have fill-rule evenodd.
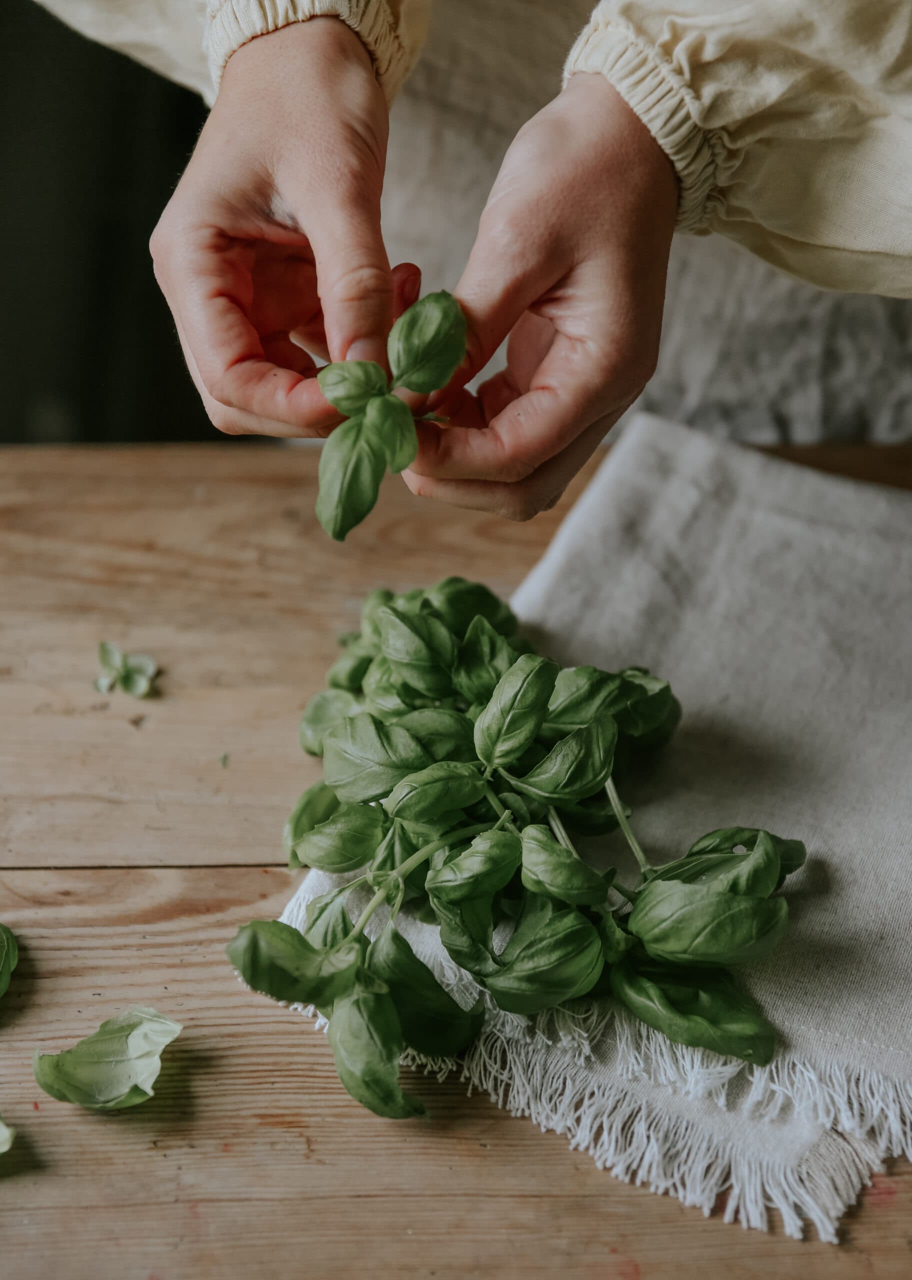
<path id="1" fill-rule="evenodd" d="M 548 658 L 523 654 L 497 682 L 475 721 L 475 750 L 488 768 L 510 764 L 533 742 L 558 671 Z"/>

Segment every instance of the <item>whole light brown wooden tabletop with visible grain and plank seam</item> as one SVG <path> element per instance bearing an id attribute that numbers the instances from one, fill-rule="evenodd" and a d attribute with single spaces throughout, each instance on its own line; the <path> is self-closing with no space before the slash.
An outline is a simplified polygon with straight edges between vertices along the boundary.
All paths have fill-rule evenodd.
<path id="1" fill-rule="evenodd" d="M 801 460 L 912 488 L 912 448 Z M 297 717 L 361 595 L 453 571 L 507 593 L 573 498 L 506 525 L 391 481 L 342 548 L 315 525 L 315 474 L 306 449 L 0 454 L 0 920 L 22 946 L 0 1001 L 0 1114 L 19 1130 L 0 1157 L 0 1275 L 912 1275 L 904 1164 L 840 1248 L 745 1233 L 457 1083 L 415 1079 L 429 1117 L 377 1120 L 322 1036 L 233 980 L 225 941 L 297 879 L 279 832 L 318 776 Z M 100 639 L 154 654 L 164 696 L 94 692 Z M 100 1116 L 41 1093 L 36 1046 L 136 1004 L 186 1028 L 151 1102 Z"/>

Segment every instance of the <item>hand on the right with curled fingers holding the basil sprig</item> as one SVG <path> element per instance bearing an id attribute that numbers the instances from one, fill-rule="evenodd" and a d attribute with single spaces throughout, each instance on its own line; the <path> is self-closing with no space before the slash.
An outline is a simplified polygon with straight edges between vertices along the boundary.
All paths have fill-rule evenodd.
<path id="1" fill-rule="evenodd" d="M 652 376 L 674 169 L 608 82 L 576 74 L 520 129 L 456 288 L 464 365 L 403 472 L 412 493 L 529 520 L 552 507 Z M 510 335 L 507 367 L 465 384 Z M 479 430 L 480 429 L 480 430 Z"/>

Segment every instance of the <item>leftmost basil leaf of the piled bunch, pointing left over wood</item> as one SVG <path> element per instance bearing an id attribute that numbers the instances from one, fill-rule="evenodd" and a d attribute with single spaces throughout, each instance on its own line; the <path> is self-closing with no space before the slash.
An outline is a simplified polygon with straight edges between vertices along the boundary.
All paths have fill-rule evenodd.
<path id="1" fill-rule="evenodd" d="M 227 946 L 228 959 L 252 991 L 286 1004 L 329 1007 L 351 991 L 364 940 L 324 951 L 281 920 L 251 920 Z"/>

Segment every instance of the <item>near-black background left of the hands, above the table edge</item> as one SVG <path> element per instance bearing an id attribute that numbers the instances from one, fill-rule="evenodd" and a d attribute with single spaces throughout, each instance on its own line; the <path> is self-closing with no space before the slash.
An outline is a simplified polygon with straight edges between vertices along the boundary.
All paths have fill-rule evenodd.
<path id="1" fill-rule="evenodd" d="M 0 0 L 1 444 L 218 438 L 149 256 L 205 114 L 31 0 Z"/>

